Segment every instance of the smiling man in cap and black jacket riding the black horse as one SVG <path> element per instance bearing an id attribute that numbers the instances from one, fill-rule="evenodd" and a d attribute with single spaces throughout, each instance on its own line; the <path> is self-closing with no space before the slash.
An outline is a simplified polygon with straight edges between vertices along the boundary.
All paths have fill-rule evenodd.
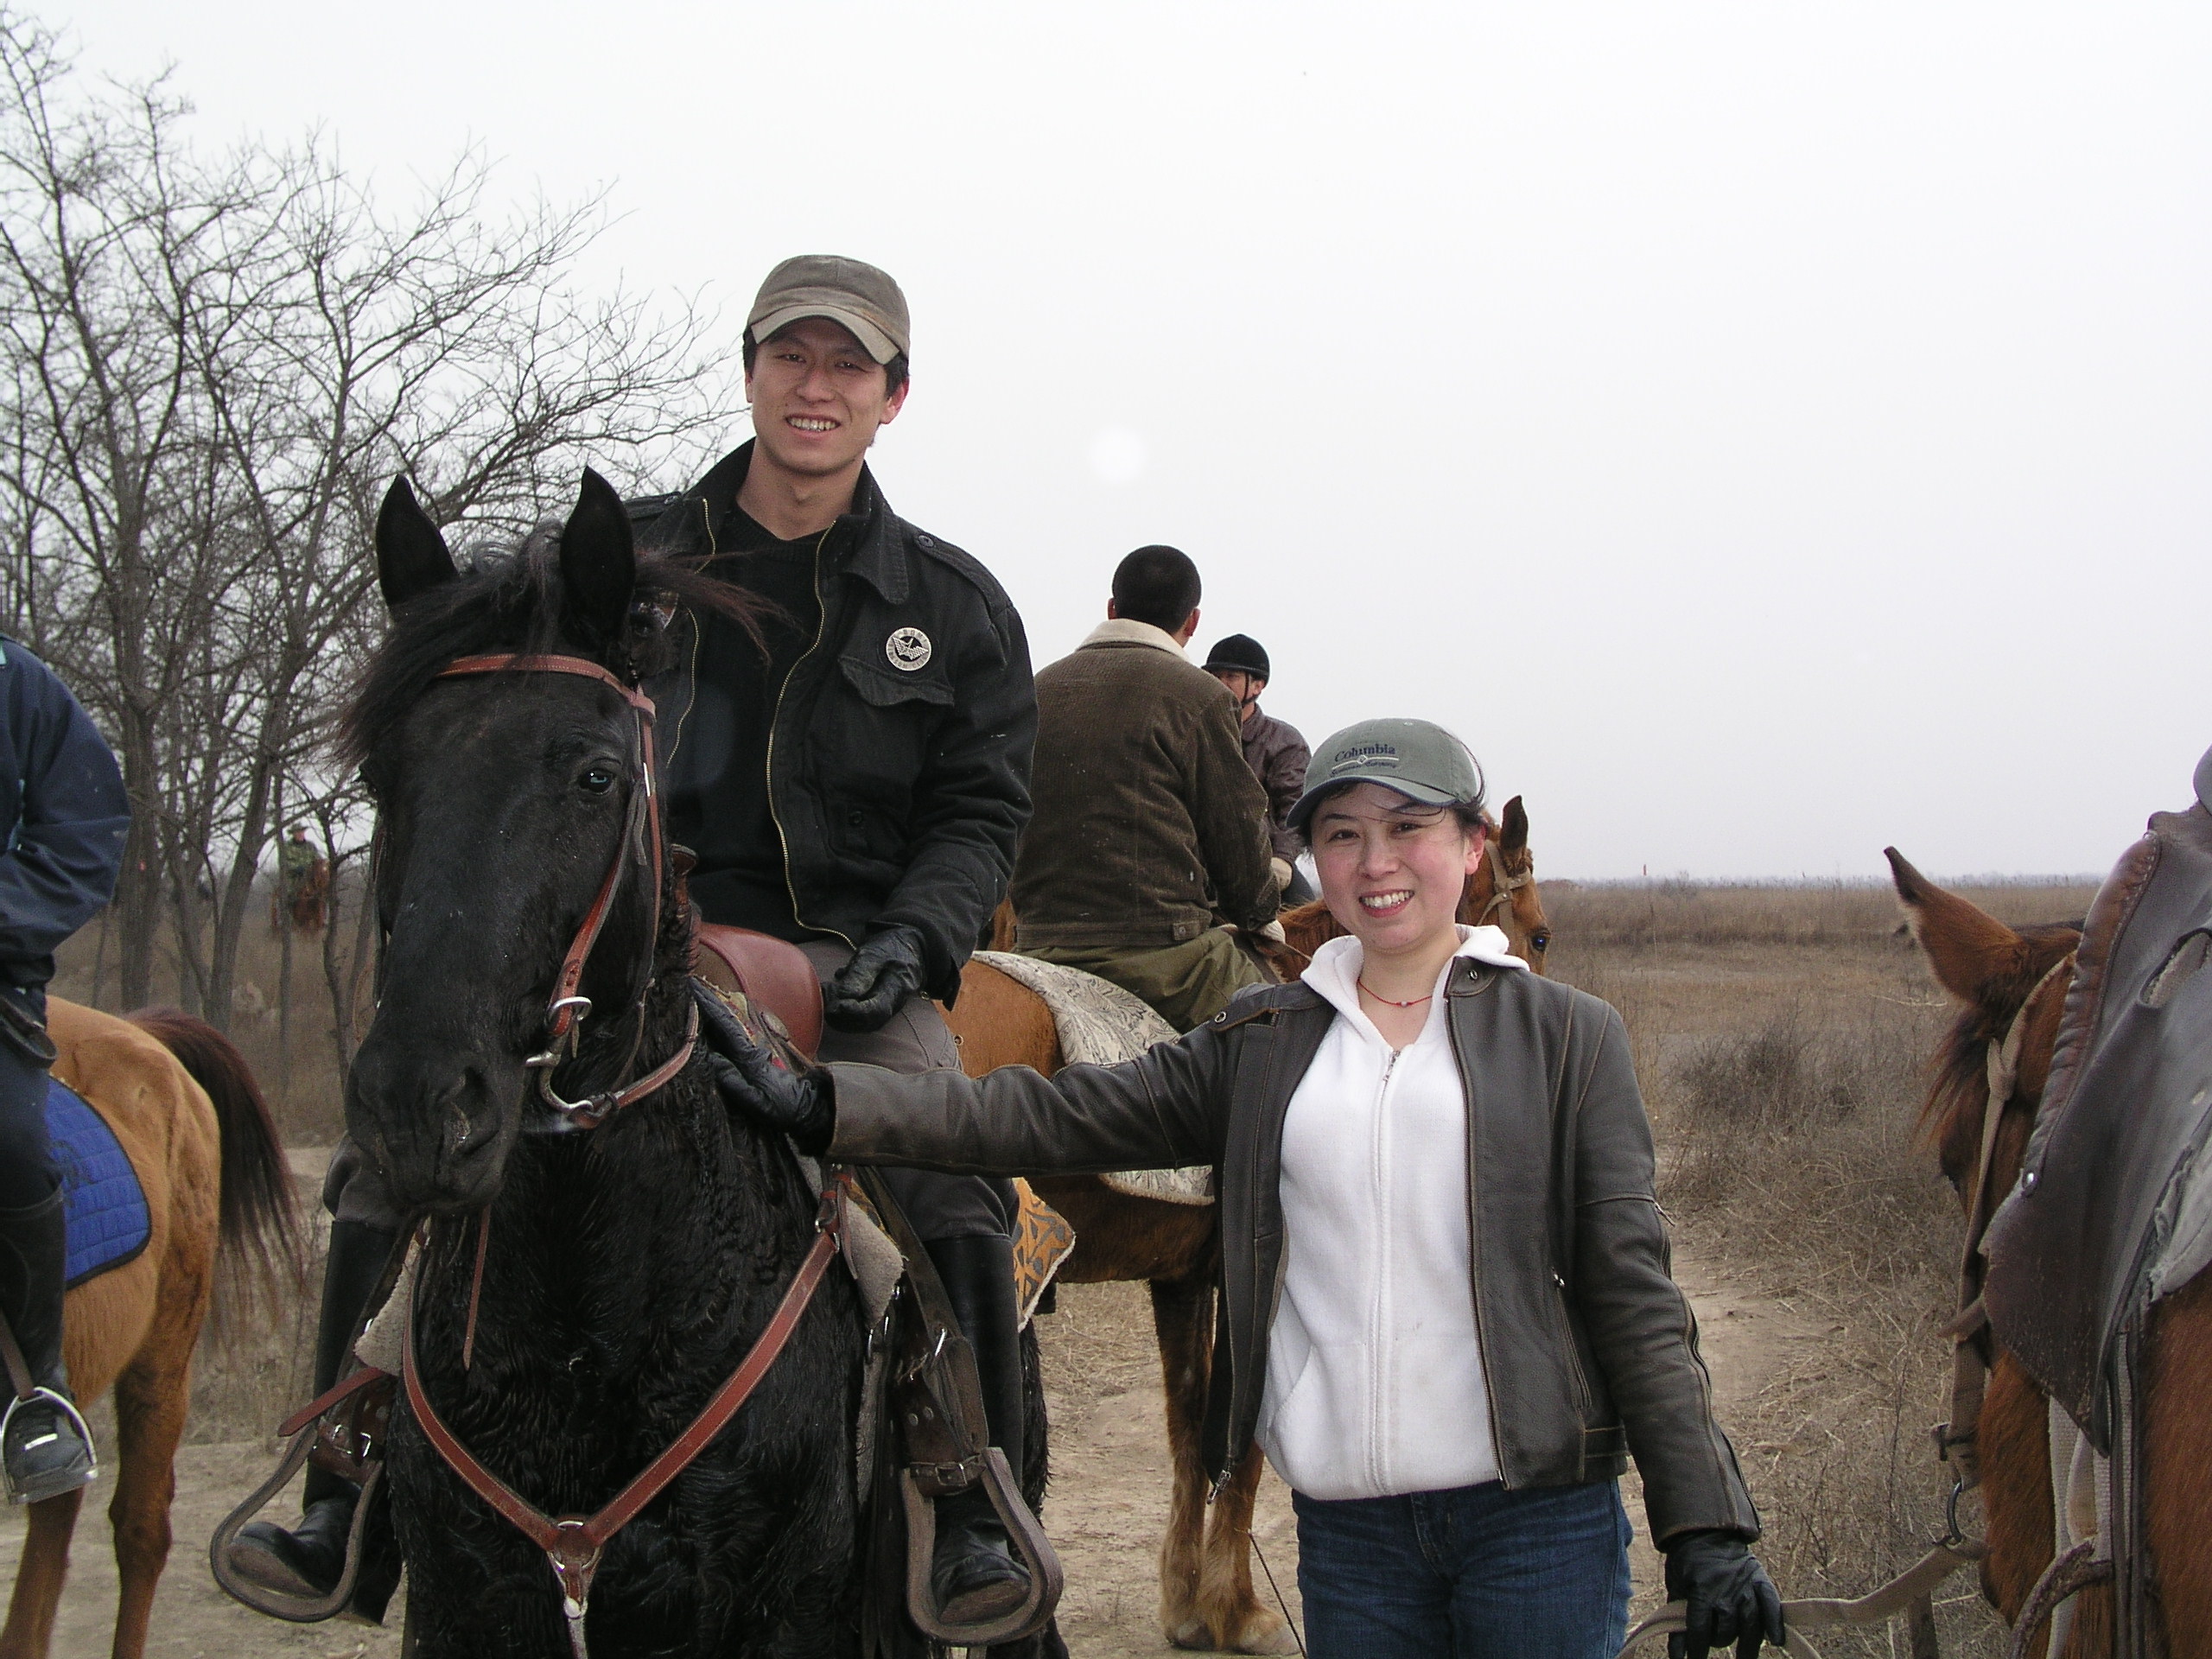
<path id="1" fill-rule="evenodd" d="M 708 922 L 799 945 L 823 975 L 827 1060 L 958 1066 L 931 998 L 998 907 L 1029 818 L 1035 692 L 1022 619 L 973 557 L 898 518 L 865 458 L 907 398 L 907 301 L 856 259 L 787 259 L 745 323 L 754 440 L 677 498 L 633 502 L 661 551 L 765 599 L 761 637 L 681 617 L 681 668 L 648 690 L 675 841 Z M 1011 1181 L 894 1172 L 975 1349 L 991 1440 L 1022 1467 Z M 396 1239 L 374 1168 L 341 1148 L 316 1389 L 336 1380 Z M 310 1475 L 314 1482 L 316 1475 Z M 314 1588 L 338 1579 L 354 1491 L 307 1491 L 292 1533 L 241 1548 Z M 982 1486 L 938 1513 L 933 1588 L 949 1624 L 1029 1593 Z"/>

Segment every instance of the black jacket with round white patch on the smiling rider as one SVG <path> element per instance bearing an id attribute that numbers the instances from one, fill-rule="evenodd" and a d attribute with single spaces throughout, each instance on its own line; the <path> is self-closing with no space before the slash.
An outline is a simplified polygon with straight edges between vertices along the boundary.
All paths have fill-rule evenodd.
<path id="1" fill-rule="evenodd" d="M 664 511 L 637 502 L 644 540 L 717 553 L 750 462 L 748 442 Z M 854 945 L 896 922 L 918 929 L 927 991 L 951 1002 L 1029 823 L 1037 697 L 1022 617 L 982 564 L 898 518 L 867 469 L 816 586 L 821 633 L 783 684 L 768 745 L 792 909 Z M 672 752 L 690 675 L 648 690 Z"/>

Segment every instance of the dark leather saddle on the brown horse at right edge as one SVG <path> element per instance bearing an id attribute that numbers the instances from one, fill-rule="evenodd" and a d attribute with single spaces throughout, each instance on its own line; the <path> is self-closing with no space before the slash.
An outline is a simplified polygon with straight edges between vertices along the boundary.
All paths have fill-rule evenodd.
<path id="1" fill-rule="evenodd" d="M 1984 1241 L 1997 1338 L 2104 1455 L 2132 1409 L 2115 1409 L 2124 1329 L 2212 1243 L 2212 1168 L 2199 1170 L 2212 1130 L 2212 754 L 2197 790 L 2197 805 L 2150 818 L 2090 905 L 2035 1135 Z M 2183 1276 L 2177 1245 L 2194 1256 Z"/>

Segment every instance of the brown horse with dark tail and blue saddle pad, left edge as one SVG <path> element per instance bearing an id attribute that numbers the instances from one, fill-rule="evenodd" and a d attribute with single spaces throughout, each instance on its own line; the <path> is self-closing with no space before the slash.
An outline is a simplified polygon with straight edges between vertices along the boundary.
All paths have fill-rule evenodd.
<path id="1" fill-rule="evenodd" d="M 215 1026 L 157 1009 L 117 1020 L 53 1000 L 53 1075 L 97 1108 L 146 1194 L 146 1248 L 69 1292 L 62 1354 L 82 1405 L 115 1389 L 115 1659 L 146 1650 L 168 1562 L 175 1458 L 192 1349 L 217 1290 L 301 1272 L 292 1172 L 243 1055 Z M 0 1659 L 42 1659 L 84 1489 L 31 1506 Z"/>

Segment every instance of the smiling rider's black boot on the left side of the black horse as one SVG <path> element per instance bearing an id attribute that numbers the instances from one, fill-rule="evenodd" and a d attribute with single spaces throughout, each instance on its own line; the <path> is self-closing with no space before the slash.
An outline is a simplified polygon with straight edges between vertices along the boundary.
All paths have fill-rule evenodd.
<path id="1" fill-rule="evenodd" d="M 330 1254 L 323 1261 L 323 1314 L 314 1334 L 314 1391 L 334 1389 L 352 1367 L 354 1338 L 369 1312 L 369 1296 L 376 1294 L 385 1265 L 392 1261 L 396 1232 L 372 1228 L 367 1221 L 332 1221 Z M 330 1595 L 345 1573 L 345 1537 L 354 1526 L 354 1506 L 361 1502 L 361 1486 L 345 1475 L 307 1464 L 307 1484 L 301 1493 L 299 1526 L 290 1533 L 276 1522 L 254 1522 L 246 1526 L 230 1546 L 230 1564 L 239 1575 L 263 1584 L 270 1590 L 299 1597 Z M 367 1546 L 363 1537 L 363 1546 Z M 354 1610 L 369 1619 L 383 1619 L 385 1601 L 398 1584 L 398 1571 L 372 1571 L 376 1555 L 363 1562 L 354 1579 Z M 378 1584 L 378 1579 L 389 1579 Z"/>

